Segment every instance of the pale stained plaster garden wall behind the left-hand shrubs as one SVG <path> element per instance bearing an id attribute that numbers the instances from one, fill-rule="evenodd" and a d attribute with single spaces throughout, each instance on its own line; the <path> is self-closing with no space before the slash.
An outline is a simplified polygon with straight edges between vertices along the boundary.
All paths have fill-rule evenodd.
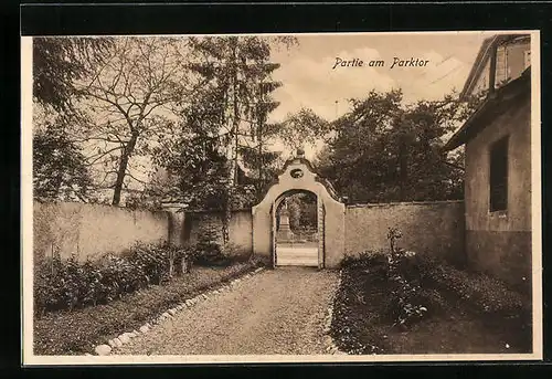
<path id="1" fill-rule="evenodd" d="M 51 256 L 79 260 L 120 252 L 136 242 L 168 239 L 168 213 L 129 210 L 76 202 L 33 203 L 33 251 L 35 259 Z"/>

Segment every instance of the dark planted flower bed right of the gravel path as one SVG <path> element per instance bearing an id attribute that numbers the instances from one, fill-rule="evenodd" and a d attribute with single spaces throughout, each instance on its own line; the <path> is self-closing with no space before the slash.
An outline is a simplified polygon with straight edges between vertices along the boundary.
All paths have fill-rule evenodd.
<path id="1" fill-rule="evenodd" d="M 388 238 L 389 251 L 363 252 L 342 262 L 331 327 L 340 349 L 349 354 L 531 350 L 530 299 L 487 275 L 397 248 L 396 230 L 390 230 Z M 405 347 L 413 350 L 402 350 Z"/>

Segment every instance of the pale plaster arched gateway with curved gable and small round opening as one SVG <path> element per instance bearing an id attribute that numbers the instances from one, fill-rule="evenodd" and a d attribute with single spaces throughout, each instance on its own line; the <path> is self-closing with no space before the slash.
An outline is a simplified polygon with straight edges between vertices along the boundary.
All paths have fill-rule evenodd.
<path id="1" fill-rule="evenodd" d="M 253 207 L 253 252 L 278 265 L 276 212 L 289 194 L 310 192 L 317 198 L 318 267 L 336 267 L 344 252 L 344 204 L 331 186 L 320 178 L 302 151 L 289 159 L 265 198 Z"/>

